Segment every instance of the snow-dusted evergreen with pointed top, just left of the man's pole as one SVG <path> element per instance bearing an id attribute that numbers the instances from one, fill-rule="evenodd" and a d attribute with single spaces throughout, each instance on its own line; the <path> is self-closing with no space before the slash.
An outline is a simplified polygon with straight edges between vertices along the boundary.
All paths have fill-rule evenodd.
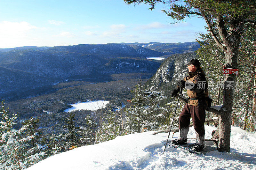
<path id="1" fill-rule="evenodd" d="M 166 99 L 161 92 L 150 92 L 143 90 L 141 81 L 132 90 L 135 97 L 130 100 L 126 107 L 126 133 L 140 133 L 141 125 L 146 129 L 156 130 L 165 121 L 168 111 L 159 105 L 160 101 Z"/>

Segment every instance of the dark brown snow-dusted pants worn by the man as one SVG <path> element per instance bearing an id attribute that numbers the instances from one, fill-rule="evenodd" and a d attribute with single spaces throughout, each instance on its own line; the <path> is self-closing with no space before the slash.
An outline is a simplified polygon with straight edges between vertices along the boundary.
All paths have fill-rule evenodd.
<path id="1" fill-rule="evenodd" d="M 187 139 L 189 130 L 189 119 L 192 117 L 193 126 L 196 131 L 196 144 L 204 145 L 204 122 L 205 122 L 205 106 L 189 106 L 185 104 L 180 113 L 180 137 L 179 139 Z"/>

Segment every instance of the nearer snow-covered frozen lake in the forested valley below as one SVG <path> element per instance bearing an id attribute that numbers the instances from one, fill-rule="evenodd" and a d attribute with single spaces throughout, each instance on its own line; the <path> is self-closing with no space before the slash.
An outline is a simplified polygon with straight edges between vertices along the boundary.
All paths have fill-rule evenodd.
<path id="1" fill-rule="evenodd" d="M 97 110 L 106 107 L 109 101 L 105 100 L 96 100 L 96 101 L 87 101 L 87 102 L 77 102 L 75 104 L 71 104 L 71 108 L 64 110 L 64 112 L 72 112 L 75 110 Z"/>

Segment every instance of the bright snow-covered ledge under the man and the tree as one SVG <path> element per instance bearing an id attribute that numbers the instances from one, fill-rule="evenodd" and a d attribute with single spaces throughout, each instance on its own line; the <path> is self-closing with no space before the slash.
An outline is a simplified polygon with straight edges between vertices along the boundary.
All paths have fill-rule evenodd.
<path id="1" fill-rule="evenodd" d="M 205 137 L 210 138 L 215 128 L 205 126 L 205 129 Z M 79 147 L 44 159 L 28 170 L 256 170 L 256 133 L 248 133 L 232 126 L 229 153 L 212 151 L 201 155 L 170 146 L 166 147 L 163 154 L 164 144 L 160 141 L 166 141 L 168 133 L 154 136 L 152 133 L 118 136 L 111 141 Z M 174 138 L 177 136 L 178 133 L 175 133 Z M 193 127 L 190 128 L 188 137 L 195 137 Z"/>

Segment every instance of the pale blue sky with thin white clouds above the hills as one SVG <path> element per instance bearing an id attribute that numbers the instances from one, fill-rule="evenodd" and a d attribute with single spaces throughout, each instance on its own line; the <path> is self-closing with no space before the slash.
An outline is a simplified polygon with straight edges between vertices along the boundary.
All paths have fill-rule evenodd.
<path id="1" fill-rule="evenodd" d="M 0 0 L 0 48 L 117 42 L 190 42 L 205 32 L 200 18 L 175 22 L 157 4 L 123 0 Z"/>

